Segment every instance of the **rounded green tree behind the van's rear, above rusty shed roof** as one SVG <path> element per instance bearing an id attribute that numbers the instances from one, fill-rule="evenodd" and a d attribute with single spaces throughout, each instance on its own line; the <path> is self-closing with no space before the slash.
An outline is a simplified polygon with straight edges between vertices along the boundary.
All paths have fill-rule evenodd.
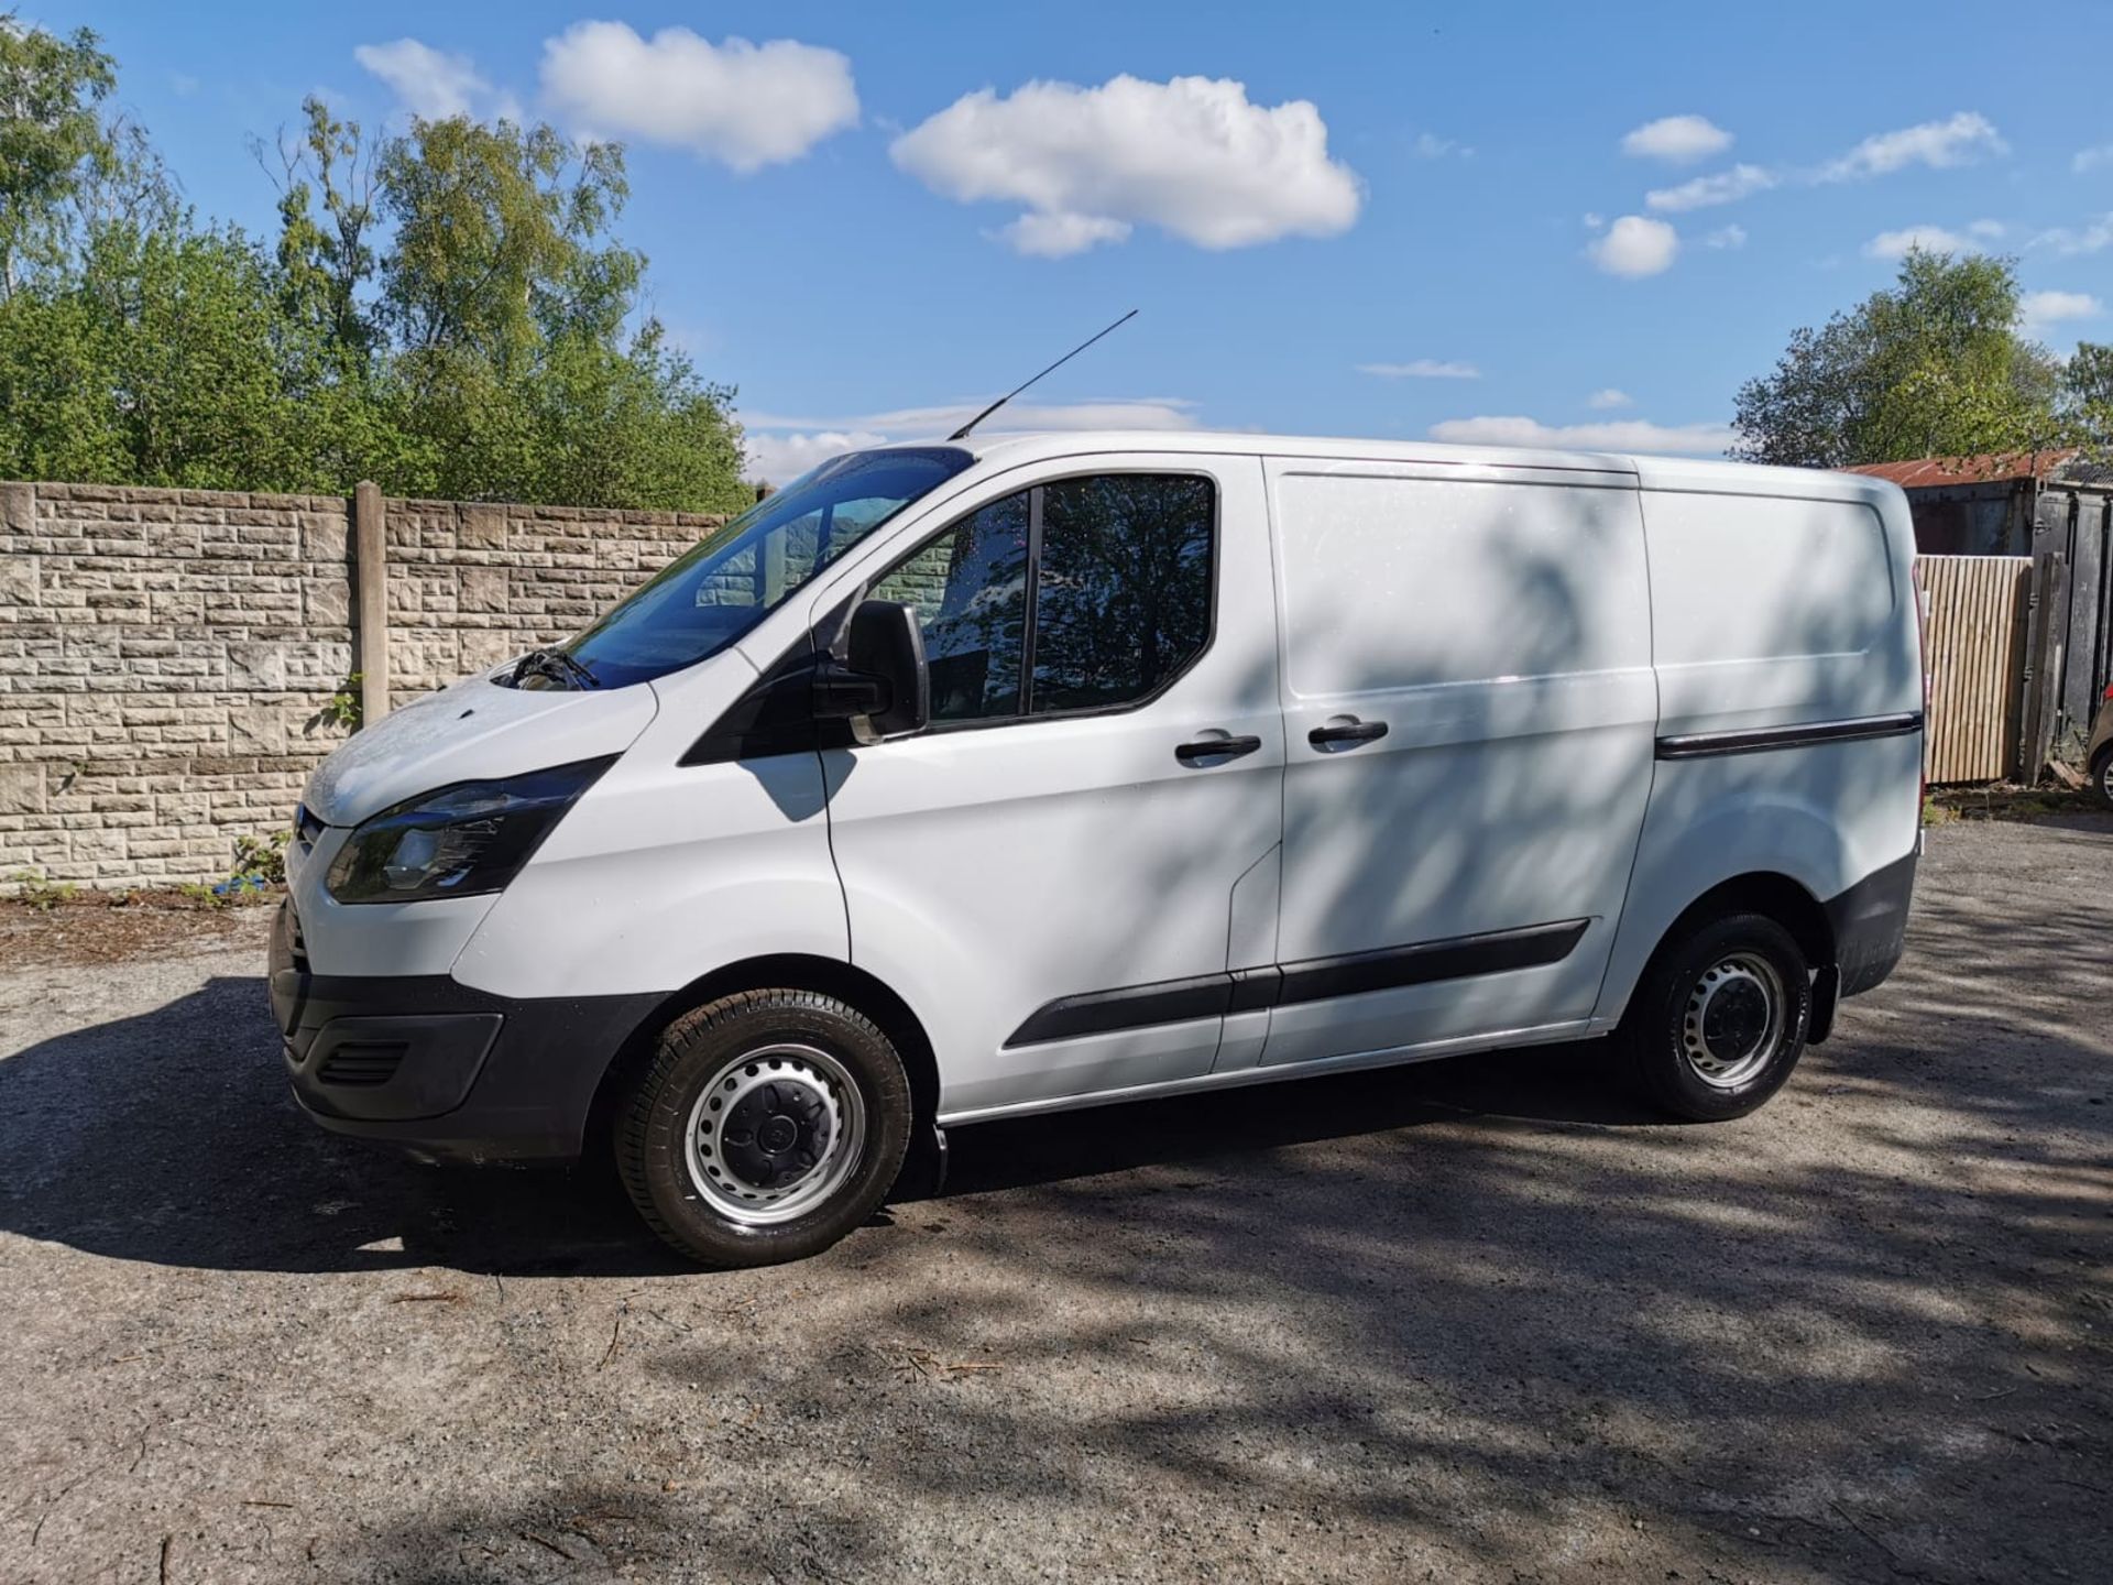
<path id="1" fill-rule="evenodd" d="M 2058 444 L 2060 363 L 2018 334 L 2009 260 L 1914 249 L 1900 281 L 1739 387 L 1733 454 L 1847 467 Z"/>

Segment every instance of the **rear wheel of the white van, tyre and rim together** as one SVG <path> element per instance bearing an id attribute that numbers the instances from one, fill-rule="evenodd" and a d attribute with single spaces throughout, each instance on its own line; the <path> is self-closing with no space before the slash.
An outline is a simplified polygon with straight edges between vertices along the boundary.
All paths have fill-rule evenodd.
<path id="1" fill-rule="evenodd" d="M 1811 1014 L 1798 943 L 1766 915 L 1733 913 L 1659 947 L 1614 1038 L 1644 1099 L 1720 1122 L 1783 1088 Z"/>

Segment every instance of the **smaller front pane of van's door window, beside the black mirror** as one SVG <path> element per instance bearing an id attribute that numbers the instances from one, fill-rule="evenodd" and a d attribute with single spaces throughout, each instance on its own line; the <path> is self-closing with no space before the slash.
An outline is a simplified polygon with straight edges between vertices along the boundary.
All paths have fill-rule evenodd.
<path id="1" fill-rule="evenodd" d="M 1021 712 L 1025 490 L 957 522 L 883 577 L 873 594 L 917 607 L 932 668 L 934 721 Z"/>

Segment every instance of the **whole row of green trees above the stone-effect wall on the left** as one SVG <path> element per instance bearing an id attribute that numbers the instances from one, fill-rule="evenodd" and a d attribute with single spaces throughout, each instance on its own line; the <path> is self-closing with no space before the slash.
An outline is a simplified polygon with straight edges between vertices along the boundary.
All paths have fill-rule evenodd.
<path id="1" fill-rule="evenodd" d="M 175 203 L 114 82 L 93 34 L 0 17 L 0 476 L 746 503 L 733 391 L 613 237 L 619 146 L 461 116 L 370 139 L 308 99 L 262 247 Z"/>

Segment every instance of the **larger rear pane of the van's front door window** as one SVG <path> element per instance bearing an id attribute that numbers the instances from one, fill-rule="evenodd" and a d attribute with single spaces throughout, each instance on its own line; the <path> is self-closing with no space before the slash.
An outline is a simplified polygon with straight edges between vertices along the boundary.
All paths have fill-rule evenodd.
<path id="1" fill-rule="evenodd" d="M 1211 482 L 1154 473 L 1042 492 L 1033 712 L 1141 700 L 1211 632 Z"/>

